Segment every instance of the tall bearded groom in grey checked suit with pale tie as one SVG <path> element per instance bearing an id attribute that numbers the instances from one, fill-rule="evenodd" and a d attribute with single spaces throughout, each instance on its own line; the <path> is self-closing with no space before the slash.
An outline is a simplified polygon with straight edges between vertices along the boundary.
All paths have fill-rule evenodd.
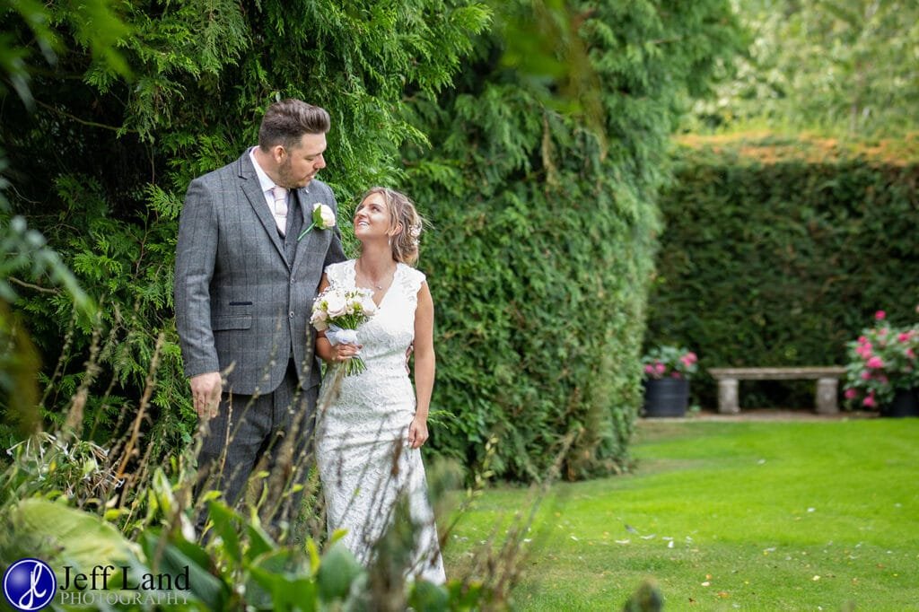
<path id="1" fill-rule="evenodd" d="M 337 224 L 303 233 L 314 205 L 337 214 L 332 190 L 315 179 L 329 126 L 323 108 L 276 102 L 258 146 L 188 186 L 176 328 L 195 410 L 209 425 L 199 467 L 211 470 L 229 504 L 259 460 L 272 503 L 305 481 L 320 383 L 308 320 L 324 267 L 345 259 Z M 295 515 L 300 496 L 285 499 Z"/>

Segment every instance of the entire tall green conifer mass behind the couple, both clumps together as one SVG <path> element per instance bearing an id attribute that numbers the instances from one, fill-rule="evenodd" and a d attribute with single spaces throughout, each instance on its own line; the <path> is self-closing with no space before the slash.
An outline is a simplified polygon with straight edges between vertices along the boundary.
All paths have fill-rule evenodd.
<path id="1" fill-rule="evenodd" d="M 16 211 L 102 304 L 96 435 L 136 405 L 162 332 L 148 436 L 161 451 L 190 436 L 171 303 L 185 188 L 255 142 L 271 100 L 299 96 L 332 113 L 323 176 L 345 214 L 386 183 L 433 221 L 420 266 L 437 304 L 435 448 L 476 464 L 496 436 L 494 471 L 528 480 L 570 433 L 569 477 L 617 469 L 667 136 L 736 46 L 726 0 L 673 4 L 128 2 L 128 81 L 67 39 L 33 80 L 36 110 L 4 106 L 2 135 Z M 23 277 L 45 376 L 66 356 L 54 419 L 92 327 Z"/>

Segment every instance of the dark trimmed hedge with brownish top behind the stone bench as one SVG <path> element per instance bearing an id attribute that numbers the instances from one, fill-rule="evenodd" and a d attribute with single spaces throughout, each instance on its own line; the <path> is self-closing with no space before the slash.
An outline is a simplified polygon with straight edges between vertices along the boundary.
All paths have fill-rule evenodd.
<path id="1" fill-rule="evenodd" d="M 917 145 L 684 139 L 662 201 L 646 345 L 691 346 L 703 368 L 832 365 L 874 312 L 913 321 Z M 699 383 L 714 407 L 713 382 Z M 761 384 L 741 398 L 812 401 L 810 385 Z"/>

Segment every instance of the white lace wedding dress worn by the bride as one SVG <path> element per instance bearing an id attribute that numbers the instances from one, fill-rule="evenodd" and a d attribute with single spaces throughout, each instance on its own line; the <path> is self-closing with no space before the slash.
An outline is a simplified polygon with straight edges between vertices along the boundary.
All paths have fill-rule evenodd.
<path id="1" fill-rule="evenodd" d="M 332 285 L 355 287 L 353 259 L 328 266 L 325 273 Z M 423 282 L 424 273 L 397 264 L 376 314 L 357 330 L 367 369 L 346 377 L 326 374 L 327 384 L 341 382 L 337 390 L 323 389 L 320 394 L 316 460 L 330 534 L 346 529 L 346 546 L 367 564 L 373 544 L 391 524 L 400 495 L 407 495 L 415 526 L 414 563 L 408 573 L 443 584 L 446 576 L 421 451 L 407 442 L 415 396 L 405 370 L 405 351 L 414 339 L 414 312 Z"/>

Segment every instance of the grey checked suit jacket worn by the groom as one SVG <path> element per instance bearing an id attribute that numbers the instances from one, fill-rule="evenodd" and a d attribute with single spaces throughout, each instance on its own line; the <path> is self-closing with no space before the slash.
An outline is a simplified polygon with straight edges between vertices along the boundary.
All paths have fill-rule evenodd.
<path id="1" fill-rule="evenodd" d="M 304 229 L 316 202 L 337 216 L 335 196 L 323 182 L 313 179 L 296 191 Z M 318 385 L 312 300 L 325 266 L 344 259 L 336 224 L 312 229 L 288 261 L 248 151 L 193 180 L 176 246 L 176 328 L 186 376 L 232 365 L 226 391 L 267 393 L 284 379 L 292 348 L 301 386 Z M 302 380 L 307 368 L 309 378 Z"/>

